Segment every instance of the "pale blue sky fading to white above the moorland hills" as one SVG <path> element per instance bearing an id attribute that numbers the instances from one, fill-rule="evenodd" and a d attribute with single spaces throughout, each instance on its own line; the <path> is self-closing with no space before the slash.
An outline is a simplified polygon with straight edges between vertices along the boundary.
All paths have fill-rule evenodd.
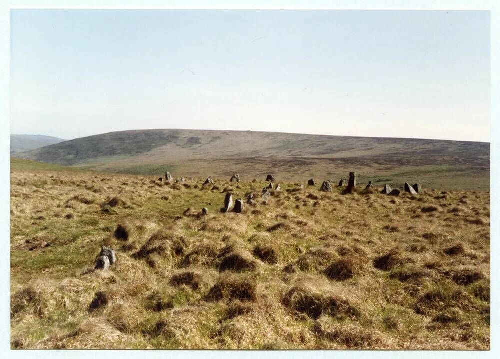
<path id="1" fill-rule="evenodd" d="M 11 11 L 10 127 L 490 141 L 488 11 Z"/>

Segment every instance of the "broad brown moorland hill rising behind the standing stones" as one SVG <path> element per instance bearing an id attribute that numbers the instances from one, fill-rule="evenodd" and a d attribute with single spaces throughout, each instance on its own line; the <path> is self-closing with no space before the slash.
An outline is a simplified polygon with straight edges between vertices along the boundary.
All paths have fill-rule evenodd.
<path id="1" fill-rule="evenodd" d="M 77 138 L 16 157 L 81 168 L 174 176 L 316 181 L 345 178 L 489 189 L 490 144 L 254 131 L 133 130 Z"/>

